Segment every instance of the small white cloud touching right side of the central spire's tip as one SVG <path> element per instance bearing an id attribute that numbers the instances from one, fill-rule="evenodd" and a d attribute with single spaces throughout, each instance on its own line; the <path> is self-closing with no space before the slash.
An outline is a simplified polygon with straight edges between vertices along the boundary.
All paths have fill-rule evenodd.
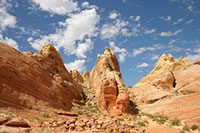
<path id="1" fill-rule="evenodd" d="M 123 63 L 126 60 L 126 56 L 128 55 L 128 52 L 125 48 L 119 48 L 115 45 L 115 42 L 109 43 L 111 49 L 114 50 L 115 53 L 119 53 L 119 62 Z"/>

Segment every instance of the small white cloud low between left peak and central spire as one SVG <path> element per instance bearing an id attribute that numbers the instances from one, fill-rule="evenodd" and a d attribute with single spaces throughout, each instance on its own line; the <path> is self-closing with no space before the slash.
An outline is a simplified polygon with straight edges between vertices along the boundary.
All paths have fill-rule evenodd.
<path id="1" fill-rule="evenodd" d="M 70 62 L 65 64 L 65 67 L 67 70 L 78 70 L 79 72 L 83 72 L 86 67 L 85 67 L 85 60 L 75 60 L 74 62 Z"/>

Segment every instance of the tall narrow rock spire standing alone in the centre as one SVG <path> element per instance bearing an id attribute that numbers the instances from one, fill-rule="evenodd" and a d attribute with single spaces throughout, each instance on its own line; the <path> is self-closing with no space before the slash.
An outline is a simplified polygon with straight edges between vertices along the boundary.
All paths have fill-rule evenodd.
<path id="1" fill-rule="evenodd" d="M 119 70 L 115 53 L 105 48 L 90 73 L 91 87 L 103 113 L 122 115 L 128 108 L 129 96 Z"/>

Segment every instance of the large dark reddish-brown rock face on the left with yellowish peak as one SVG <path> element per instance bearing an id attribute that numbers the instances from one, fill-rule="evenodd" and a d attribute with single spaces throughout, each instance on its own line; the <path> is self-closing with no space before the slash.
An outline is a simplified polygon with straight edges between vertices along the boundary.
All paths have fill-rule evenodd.
<path id="1" fill-rule="evenodd" d="M 24 54 L 0 43 L 0 106 L 43 110 L 69 109 L 72 99 L 82 99 L 74 81 L 50 44 L 38 53 Z"/>

